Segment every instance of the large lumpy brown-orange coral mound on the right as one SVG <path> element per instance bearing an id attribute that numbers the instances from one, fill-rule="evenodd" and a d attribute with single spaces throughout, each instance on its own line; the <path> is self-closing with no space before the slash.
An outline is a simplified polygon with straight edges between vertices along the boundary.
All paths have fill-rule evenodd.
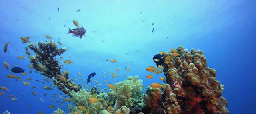
<path id="1" fill-rule="evenodd" d="M 202 51 L 180 46 L 164 57 L 171 58 L 163 65 L 169 85 L 164 85 L 164 92 L 147 88 L 146 106 L 152 114 L 228 114 L 228 102 L 221 96 L 224 86 L 216 71 L 207 67 Z"/>

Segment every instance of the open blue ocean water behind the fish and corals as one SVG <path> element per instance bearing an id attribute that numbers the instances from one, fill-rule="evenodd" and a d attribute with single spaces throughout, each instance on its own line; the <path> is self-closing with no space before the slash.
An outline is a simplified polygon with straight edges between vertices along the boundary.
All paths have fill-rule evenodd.
<path id="1" fill-rule="evenodd" d="M 58 97 L 64 94 L 57 95 L 53 102 L 52 94 L 57 93 L 58 88 L 44 90 L 43 86 L 51 84 L 41 83 L 45 76 L 28 67 L 28 58 L 16 58 L 28 57 L 24 49 L 28 43 L 22 44 L 20 37 L 29 36 L 36 43 L 49 40 L 44 36 L 50 35 L 51 40 L 60 41 L 63 45 L 60 47 L 68 49 L 63 57 L 74 61 L 64 67 L 71 77 L 75 79 L 79 77 L 77 73 L 81 73 L 86 79 L 96 72 L 93 79 L 103 84 L 100 88 L 108 88 L 103 80 L 113 80 L 102 76 L 110 75 L 109 71 L 117 72 L 117 68 L 120 71 L 116 82 L 125 79 L 122 74 L 128 74 L 139 75 L 144 86 L 161 83 L 158 78 L 145 77 L 150 74 L 146 67 L 155 66 L 152 60 L 155 54 L 180 45 L 189 50 L 200 49 L 208 66 L 216 69 L 217 79 L 225 85 L 222 96 L 228 100 L 230 114 L 254 114 L 255 4 L 254 0 L 0 0 L 0 48 L 3 50 L 5 43 L 11 43 L 10 52 L 0 51 L 0 86 L 9 89 L 0 91 L 5 93 L 0 96 L 0 113 L 8 110 L 11 114 L 37 114 L 38 111 L 52 114 L 56 108 L 48 108 L 50 104 L 60 107 L 56 101 L 61 101 Z M 78 9 L 80 12 L 76 12 Z M 66 34 L 68 27 L 76 28 L 72 20 L 86 29 L 86 37 L 79 39 Z M 116 59 L 117 63 L 106 59 Z M 10 68 L 19 64 L 25 72 L 32 70 L 32 73 L 18 74 L 22 77 L 20 81 L 10 79 L 6 76 L 14 73 L 6 70 L 4 61 Z M 128 66 L 130 72 L 125 70 Z M 30 77 L 31 85 L 23 85 L 22 81 Z M 92 85 L 97 84 L 92 82 Z M 36 96 L 32 92 L 36 92 Z M 43 96 L 45 93 L 48 95 Z M 18 100 L 11 100 L 10 94 Z M 66 104 L 62 107 L 67 108 Z"/>

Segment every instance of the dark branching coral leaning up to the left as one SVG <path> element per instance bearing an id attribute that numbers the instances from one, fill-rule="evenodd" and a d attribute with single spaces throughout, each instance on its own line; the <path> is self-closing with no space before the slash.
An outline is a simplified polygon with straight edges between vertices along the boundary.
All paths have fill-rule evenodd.
<path id="1" fill-rule="evenodd" d="M 61 65 L 56 56 L 64 53 L 65 48 L 58 48 L 53 41 L 46 41 L 46 43 L 39 41 L 37 47 L 30 43 L 28 47 L 36 54 L 29 57 L 30 63 L 36 71 L 40 71 L 41 75 L 53 79 L 58 89 L 68 96 L 71 96 L 71 91 L 78 92 L 80 90 L 80 85 L 75 85 L 67 73 L 63 74 L 60 71 Z"/>

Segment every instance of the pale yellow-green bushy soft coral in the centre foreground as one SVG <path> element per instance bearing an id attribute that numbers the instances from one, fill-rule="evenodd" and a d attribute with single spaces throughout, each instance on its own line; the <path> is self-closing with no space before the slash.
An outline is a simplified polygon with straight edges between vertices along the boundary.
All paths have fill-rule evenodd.
<path id="1" fill-rule="evenodd" d="M 123 105 L 132 108 L 135 112 L 142 110 L 145 106 L 144 95 L 142 94 L 142 80 L 138 78 L 138 76 L 130 76 L 125 81 L 120 81 L 114 85 L 115 89 L 111 89 L 109 93 L 112 102 L 117 100 L 114 110 Z"/>

